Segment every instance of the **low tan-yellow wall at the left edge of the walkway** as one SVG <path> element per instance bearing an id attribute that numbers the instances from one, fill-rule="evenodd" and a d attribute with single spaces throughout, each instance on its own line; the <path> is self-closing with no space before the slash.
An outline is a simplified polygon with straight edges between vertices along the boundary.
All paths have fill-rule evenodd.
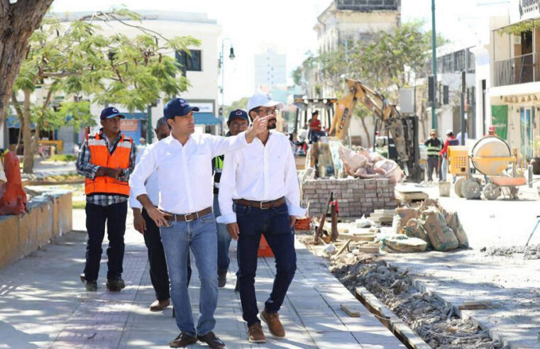
<path id="1" fill-rule="evenodd" d="M 71 230 L 71 192 L 35 196 L 27 213 L 0 216 L 0 269 Z"/>

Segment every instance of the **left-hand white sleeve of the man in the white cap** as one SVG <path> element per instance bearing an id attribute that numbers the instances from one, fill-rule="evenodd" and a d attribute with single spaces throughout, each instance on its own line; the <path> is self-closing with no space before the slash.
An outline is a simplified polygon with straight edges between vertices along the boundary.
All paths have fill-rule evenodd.
<path id="1" fill-rule="evenodd" d="M 233 194 L 236 187 L 236 167 L 237 160 L 235 153 L 228 153 L 225 156 L 221 178 L 219 179 L 219 211 L 221 216 L 217 218 L 218 223 L 235 223 L 236 213 L 233 211 Z"/>

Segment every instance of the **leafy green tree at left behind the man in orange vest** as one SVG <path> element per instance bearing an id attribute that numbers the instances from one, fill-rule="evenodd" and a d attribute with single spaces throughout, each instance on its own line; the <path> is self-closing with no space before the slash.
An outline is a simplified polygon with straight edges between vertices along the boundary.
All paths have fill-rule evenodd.
<path id="1" fill-rule="evenodd" d="M 138 21 L 140 16 L 127 9 L 116 9 L 94 13 L 68 26 L 50 17 L 31 36 L 13 92 L 13 104 L 23 130 L 25 173 L 31 173 L 33 168 L 35 144 L 31 140 L 31 122 L 35 123 L 38 140 L 43 128 L 89 123 L 91 99 L 102 105 L 121 104 L 129 111 L 144 110 L 161 96 L 175 96 L 189 87 L 174 57 L 164 52 L 187 50 L 189 45 L 199 45 L 199 40 L 164 38 L 126 19 Z M 118 21 L 138 28 L 140 34 L 135 38 L 120 33 L 106 37 L 95 23 L 97 20 Z M 46 96 L 31 105 L 31 95 L 38 84 L 46 87 Z M 23 94 L 22 109 L 17 92 Z M 58 94 L 67 98 L 53 105 L 53 97 Z"/>

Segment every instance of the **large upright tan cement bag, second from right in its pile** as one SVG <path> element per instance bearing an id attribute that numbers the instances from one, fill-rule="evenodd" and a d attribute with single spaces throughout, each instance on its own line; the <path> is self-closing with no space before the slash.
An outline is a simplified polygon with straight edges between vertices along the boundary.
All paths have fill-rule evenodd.
<path id="1" fill-rule="evenodd" d="M 452 229 L 446 226 L 443 214 L 431 207 L 424 211 L 424 215 L 426 217 L 424 229 L 435 250 L 448 251 L 458 248 L 458 238 Z"/>

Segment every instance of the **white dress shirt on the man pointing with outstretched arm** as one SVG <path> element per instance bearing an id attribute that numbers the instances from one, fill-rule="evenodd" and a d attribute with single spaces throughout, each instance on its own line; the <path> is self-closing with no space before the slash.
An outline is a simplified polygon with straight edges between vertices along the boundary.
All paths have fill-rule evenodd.
<path id="1" fill-rule="evenodd" d="M 211 160 L 231 150 L 248 145 L 245 132 L 233 137 L 190 135 L 182 145 L 172 135 L 148 145 L 140 162 L 129 177 L 131 194 L 148 194 L 145 181 L 150 174 L 158 174 L 160 192 L 158 208 L 171 214 L 191 214 L 211 207 Z"/>

